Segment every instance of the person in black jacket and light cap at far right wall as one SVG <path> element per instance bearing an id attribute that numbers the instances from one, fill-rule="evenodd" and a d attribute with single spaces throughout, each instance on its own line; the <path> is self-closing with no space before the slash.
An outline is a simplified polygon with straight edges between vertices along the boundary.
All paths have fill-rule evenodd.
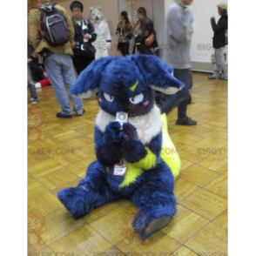
<path id="1" fill-rule="evenodd" d="M 216 24 L 215 18 L 211 18 L 213 36 L 213 48 L 215 49 L 215 64 L 214 71 L 209 79 L 222 79 L 228 80 L 228 71 L 226 67 L 226 61 L 224 56 L 226 45 L 226 29 L 228 28 L 228 15 L 227 15 L 227 3 L 217 4 L 218 13 L 221 16 L 218 24 Z M 219 69 L 222 69 L 222 76 L 220 77 Z"/>

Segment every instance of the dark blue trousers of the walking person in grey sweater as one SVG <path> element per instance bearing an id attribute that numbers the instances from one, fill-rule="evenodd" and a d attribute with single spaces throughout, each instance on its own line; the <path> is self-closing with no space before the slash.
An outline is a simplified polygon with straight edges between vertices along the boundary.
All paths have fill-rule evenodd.
<path id="1" fill-rule="evenodd" d="M 181 91 L 178 91 L 177 93 L 166 98 L 164 103 L 160 102 L 162 113 L 167 115 L 174 107 L 178 106 L 178 119 L 185 119 L 187 117 L 186 109 L 190 90 L 189 71 L 190 70 L 188 69 L 174 69 L 174 77 L 176 77 L 181 83 L 185 84 L 185 87 Z"/>

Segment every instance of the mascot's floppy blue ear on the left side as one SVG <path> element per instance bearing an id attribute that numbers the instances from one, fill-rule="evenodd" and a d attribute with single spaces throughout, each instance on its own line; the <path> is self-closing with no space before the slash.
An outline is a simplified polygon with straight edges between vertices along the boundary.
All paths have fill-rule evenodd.
<path id="1" fill-rule="evenodd" d="M 77 78 L 71 87 L 70 94 L 77 98 L 91 98 L 98 92 L 101 75 L 105 67 L 111 63 L 114 57 L 101 57 L 93 61 Z"/>

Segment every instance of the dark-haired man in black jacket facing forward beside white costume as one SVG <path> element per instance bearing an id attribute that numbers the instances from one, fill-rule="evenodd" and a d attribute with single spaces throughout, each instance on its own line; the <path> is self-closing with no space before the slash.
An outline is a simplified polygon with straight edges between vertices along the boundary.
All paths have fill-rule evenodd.
<path id="1" fill-rule="evenodd" d="M 79 1 L 74 1 L 70 6 L 73 17 L 71 18 L 75 30 L 75 42 L 72 44 L 74 57 L 73 62 L 79 75 L 95 59 L 95 54 L 88 55 L 84 50 L 84 40 L 86 45 L 93 49 L 91 43 L 97 39 L 97 34 L 89 19 L 83 17 L 84 5 Z"/>

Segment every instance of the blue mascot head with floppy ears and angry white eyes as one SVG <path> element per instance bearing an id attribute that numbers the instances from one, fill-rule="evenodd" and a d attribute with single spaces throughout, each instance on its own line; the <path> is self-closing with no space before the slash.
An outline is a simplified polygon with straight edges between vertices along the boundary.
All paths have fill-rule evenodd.
<path id="1" fill-rule="evenodd" d="M 172 67 L 158 57 L 133 55 L 102 57 L 88 66 L 72 86 L 71 95 L 90 98 L 98 92 L 101 109 L 113 116 L 119 111 L 149 113 L 155 92 L 174 94 L 184 84 L 172 75 Z M 141 111 L 141 113 L 140 113 Z"/>

